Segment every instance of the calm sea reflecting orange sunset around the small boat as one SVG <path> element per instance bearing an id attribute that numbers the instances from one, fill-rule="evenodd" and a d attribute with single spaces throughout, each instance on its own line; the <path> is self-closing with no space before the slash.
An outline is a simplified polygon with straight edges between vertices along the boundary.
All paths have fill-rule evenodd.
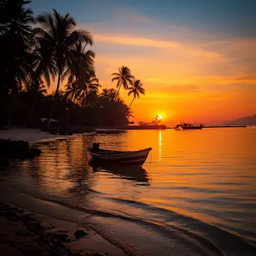
<path id="1" fill-rule="evenodd" d="M 143 168 L 92 168 L 93 141 L 153 150 Z M 127 254 L 256 255 L 255 127 L 127 131 L 37 147 L 40 157 L 16 162 L 1 182 L 85 213 L 80 225 Z"/>

